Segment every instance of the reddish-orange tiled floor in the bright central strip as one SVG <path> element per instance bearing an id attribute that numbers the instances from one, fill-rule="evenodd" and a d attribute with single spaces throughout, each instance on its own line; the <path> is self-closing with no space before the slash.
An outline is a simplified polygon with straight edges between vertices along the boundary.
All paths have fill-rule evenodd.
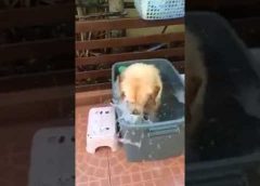
<path id="1" fill-rule="evenodd" d="M 89 106 L 76 108 L 76 186 L 184 186 L 184 156 L 160 161 L 128 162 L 120 148 L 86 151 Z"/>

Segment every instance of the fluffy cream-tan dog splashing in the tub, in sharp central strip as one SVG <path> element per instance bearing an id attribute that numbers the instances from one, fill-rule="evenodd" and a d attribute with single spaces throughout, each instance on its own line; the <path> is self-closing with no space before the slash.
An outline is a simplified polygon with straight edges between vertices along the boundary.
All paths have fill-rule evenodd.
<path id="1" fill-rule="evenodd" d="M 160 71 L 154 65 L 132 64 L 119 75 L 119 90 L 131 114 L 154 117 L 162 92 Z"/>

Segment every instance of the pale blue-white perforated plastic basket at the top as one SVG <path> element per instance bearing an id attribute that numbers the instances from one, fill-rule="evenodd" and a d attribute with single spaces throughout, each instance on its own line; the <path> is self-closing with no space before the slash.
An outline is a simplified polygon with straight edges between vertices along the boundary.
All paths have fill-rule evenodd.
<path id="1" fill-rule="evenodd" d="M 184 0 L 134 0 L 143 19 L 168 19 L 184 16 Z"/>

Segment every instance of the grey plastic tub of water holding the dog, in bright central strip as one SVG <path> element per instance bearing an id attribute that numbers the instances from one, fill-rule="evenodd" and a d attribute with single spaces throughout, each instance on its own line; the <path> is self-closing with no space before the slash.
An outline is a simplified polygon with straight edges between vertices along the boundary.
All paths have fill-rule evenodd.
<path id="1" fill-rule="evenodd" d="M 179 72 L 167 59 L 142 59 L 116 63 L 113 66 L 113 98 L 120 66 L 134 63 L 153 64 L 160 69 L 164 81 L 158 122 L 129 124 L 119 122 L 123 148 L 129 161 L 159 160 L 180 156 L 184 149 L 184 84 Z M 178 96 L 177 96 L 178 95 Z M 177 98 L 179 97 L 179 98 Z M 119 114 L 116 108 L 116 114 Z"/>

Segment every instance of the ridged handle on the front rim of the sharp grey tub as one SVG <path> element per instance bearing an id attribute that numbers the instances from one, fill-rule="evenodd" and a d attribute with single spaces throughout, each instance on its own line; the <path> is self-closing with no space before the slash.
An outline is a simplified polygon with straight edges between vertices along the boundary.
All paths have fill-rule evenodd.
<path id="1" fill-rule="evenodd" d="M 181 132 L 179 127 L 155 127 L 148 129 L 148 137 L 156 137 L 161 135 L 179 134 Z"/>

